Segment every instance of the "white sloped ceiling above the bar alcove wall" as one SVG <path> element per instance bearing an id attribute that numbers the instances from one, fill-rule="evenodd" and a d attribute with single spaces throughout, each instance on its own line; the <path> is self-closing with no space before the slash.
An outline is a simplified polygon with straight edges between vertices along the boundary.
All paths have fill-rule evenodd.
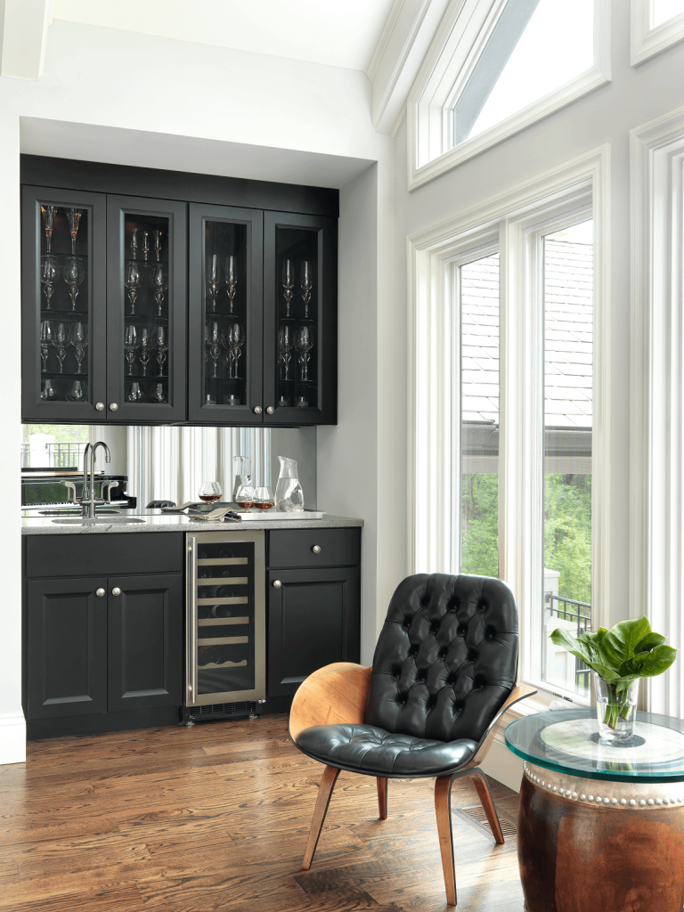
<path id="1" fill-rule="evenodd" d="M 55 0 L 54 18 L 365 70 L 393 0 Z"/>

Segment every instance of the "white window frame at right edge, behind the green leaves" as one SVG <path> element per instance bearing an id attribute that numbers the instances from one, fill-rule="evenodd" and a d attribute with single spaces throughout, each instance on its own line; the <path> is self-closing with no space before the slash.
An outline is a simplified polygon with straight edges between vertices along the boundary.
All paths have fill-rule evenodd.
<path id="1" fill-rule="evenodd" d="M 684 108 L 632 130 L 630 616 L 684 646 Z M 681 659 L 648 709 L 684 716 Z"/>

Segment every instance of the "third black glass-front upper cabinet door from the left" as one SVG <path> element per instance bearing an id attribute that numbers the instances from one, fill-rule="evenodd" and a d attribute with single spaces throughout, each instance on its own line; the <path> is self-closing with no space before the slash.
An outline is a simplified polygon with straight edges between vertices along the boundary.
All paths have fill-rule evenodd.
<path id="1" fill-rule="evenodd" d="M 261 424 L 262 212 L 190 204 L 188 417 Z"/>

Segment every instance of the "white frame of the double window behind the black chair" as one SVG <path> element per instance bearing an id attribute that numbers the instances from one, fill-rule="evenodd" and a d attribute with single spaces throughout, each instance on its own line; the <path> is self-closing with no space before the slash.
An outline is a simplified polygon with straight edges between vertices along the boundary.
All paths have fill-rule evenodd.
<path id="1" fill-rule="evenodd" d="M 521 620 L 519 677 L 544 690 L 534 655 L 539 635 L 542 557 L 534 485 L 542 481 L 543 322 L 535 273 L 534 231 L 541 222 L 591 206 L 594 213 L 594 427 L 592 433 L 592 620 L 610 617 L 608 586 L 610 488 L 610 237 L 609 146 L 527 181 L 448 223 L 408 238 L 409 264 L 409 565 L 414 573 L 443 572 L 451 558 L 452 317 L 448 264 L 498 237 L 500 256 L 499 567 L 513 589 Z M 588 205 L 587 205 L 588 204 Z M 536 318 L 535 315 L 536 314 Z M 535 328 L 536 326 L 536 328 Z M 534 357 L 531 352 L 536 346 Z M 535 367 L 535 365 L 537 365 Z M 535 371 L 537 372 L 535 374 Z M 417 493 L 420 491 L 420 498 Z M 447 494 L 449 501 L 447 501 Z M 575 694 L 561 693 L 575 702 Z"/>

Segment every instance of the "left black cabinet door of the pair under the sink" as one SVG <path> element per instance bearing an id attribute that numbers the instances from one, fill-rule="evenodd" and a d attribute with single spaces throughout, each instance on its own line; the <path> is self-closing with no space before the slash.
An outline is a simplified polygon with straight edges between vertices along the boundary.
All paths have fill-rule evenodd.
<path id="1" fill-rule="evenodd" d="M 28 718 L 107 711 L 107 580 L 27 584 Z"/>

